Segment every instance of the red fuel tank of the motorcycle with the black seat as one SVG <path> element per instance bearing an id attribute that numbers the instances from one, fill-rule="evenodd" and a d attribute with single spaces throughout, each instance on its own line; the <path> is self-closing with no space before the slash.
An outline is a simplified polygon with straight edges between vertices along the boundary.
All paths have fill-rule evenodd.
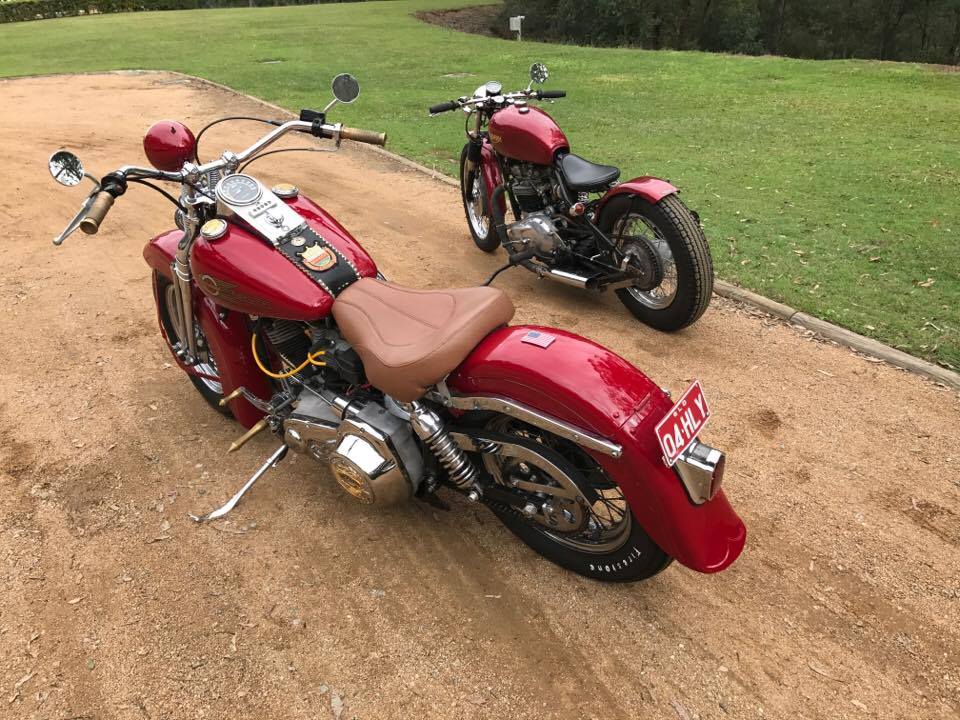
<path id="1" fill-rule="evenodd" d="M 498 153 L 537 165 L 551 165 L 558 150 L 570 149 L 563 130 L 540 108 L 504 108 L 490 118 L 489 132 Z"/>

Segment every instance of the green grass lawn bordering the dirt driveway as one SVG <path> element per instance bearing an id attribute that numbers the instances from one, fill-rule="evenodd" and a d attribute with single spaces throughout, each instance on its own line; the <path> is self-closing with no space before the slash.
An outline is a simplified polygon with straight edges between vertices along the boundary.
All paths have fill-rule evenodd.
<path id="1" fill-rule="evenodd" d="M 550 68 L 546 87 L 568 92 L 549 109 L 574 150 L 627 178 L 678 185 L 701 214 L 720 277 L 960 367 L 960 73 L 518 43 L 410 14 L 466 4 L 0 25 L 0 75 L 171 69 L 296 110 L 324 103 L 329 78 L 348 70 L 363 94 L 337 119 L 386 130 L 394 151 L 454 175 L 462 118 L 429 119 L 427 105 L 488 79 L 519 87 L 539 60 Z M 460 73 L 469 76 L 449 77 Z M 468 242 L 461 249 L 472 252 Z"/>

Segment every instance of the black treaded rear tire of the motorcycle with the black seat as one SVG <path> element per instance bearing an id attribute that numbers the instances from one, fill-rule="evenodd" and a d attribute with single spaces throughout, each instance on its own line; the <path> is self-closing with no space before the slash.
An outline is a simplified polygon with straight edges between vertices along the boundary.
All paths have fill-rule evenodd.
<path id="1" fill-rule="evenodd" d="M 650 298 L 634 288 L 617 290 L 617 297 L 642 323 L 667 332 L 695 323 L 706 311 L 713 294 L 713 260 L 700 223 L 676 195 L 653 204 L 641 197 L 619 195 L 603 208 L 600 229 L 614 242 L 620 228 L 639 216 L 662 235 L 673 255 L 676 290 L 669 301 Z M 638 297 L 639 296 L 639 297 Z M 641 299 L 644 298 L 644 299 Z"/>

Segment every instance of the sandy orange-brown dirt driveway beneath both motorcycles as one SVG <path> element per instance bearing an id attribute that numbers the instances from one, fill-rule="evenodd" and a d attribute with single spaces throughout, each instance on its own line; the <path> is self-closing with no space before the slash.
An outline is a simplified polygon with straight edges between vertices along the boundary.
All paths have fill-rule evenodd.
<path id="1" fill-rule="evenodd" d="M 482 508 L 367 510 L 300 457 L 193 524 L 276 441 L 227 456 L 239 427 L 171 367 L 141 258 L 169 205 L 132 188 L 56 249 L 82 193 L 46 161 L 144 163 L 156 119 L 249 113 L 159 73 L 0 81 L 0 717 L 958 716 L 960 397 L 728 302 L 664 335 L 614 297 L 498 280 L 517 322 L 578 331 L 675 392 L 703 381 L 749 530 L 719 575 L 591 582 Z M 258 130 L 218 126 L 202 154 Z M 253 167 L 399 282 L 477 283 L 502 261 L 473 248 L 455 189 L 373 153 Z"/>

